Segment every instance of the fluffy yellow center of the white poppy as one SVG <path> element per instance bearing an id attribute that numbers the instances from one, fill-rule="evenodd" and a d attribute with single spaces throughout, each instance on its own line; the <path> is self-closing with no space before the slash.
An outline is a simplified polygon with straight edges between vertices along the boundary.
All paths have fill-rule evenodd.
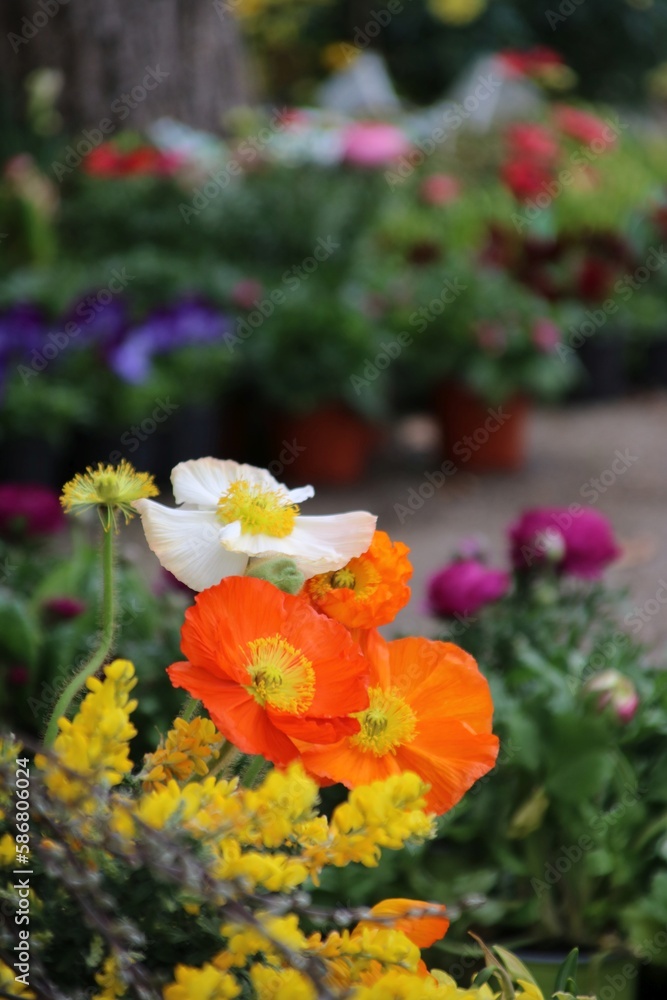
<path id="1" fill-rule="evenodd" d="M 239 521 L 244 535 L 286 538 L 294 530 L 299 508 L 279 490 L 237 479 L 218 500 L 217 516 L 223 524 Z"/>

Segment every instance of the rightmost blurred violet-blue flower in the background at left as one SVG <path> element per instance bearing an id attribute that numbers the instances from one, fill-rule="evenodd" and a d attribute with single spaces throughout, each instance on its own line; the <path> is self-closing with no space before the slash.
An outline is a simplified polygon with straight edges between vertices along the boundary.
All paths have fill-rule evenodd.
<path id="1" fill-rule="evenodd" d="M 129 330 L 109 355 L 112 370 L 133 385 L 145 382 L 157 354 L 191 344 L 220 340 L 228 329 L 226 316 L 198 299 L 184 299 L 158 309 Z"/>

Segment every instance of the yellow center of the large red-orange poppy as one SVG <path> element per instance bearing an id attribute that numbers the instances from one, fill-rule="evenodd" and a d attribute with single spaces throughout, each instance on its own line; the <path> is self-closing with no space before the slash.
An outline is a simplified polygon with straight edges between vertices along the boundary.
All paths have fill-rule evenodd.
<path id="1" fill-rule="evenodd" d="M 310 707 L 315 695 L 315 671 L 300 649 L 281 635 L 273 635 L 252 639 L 248 651 L 250 684 L 246 691 L 258 705 L 294 714 Z"/>

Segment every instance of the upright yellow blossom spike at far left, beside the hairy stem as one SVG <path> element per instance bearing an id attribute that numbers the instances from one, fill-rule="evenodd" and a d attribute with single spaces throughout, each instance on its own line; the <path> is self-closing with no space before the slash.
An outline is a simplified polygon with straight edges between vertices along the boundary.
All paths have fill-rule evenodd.
<path id="1" fill-rule="evenodd" d="M 129 741 L 137 732 L 130 722 L 137 707 L 130 699 L 137 683 L 134 666 L 129 660 L 114 660 L 104 673 L 104 681 L 87 681 L 89 694 L 76 718 L 59 720 L 55 763 L 41 754 L 35 758 L 37 767 L 46 771 L 51 794 L 86 812 L 94 809 L 91 788 L 111 788 L 132 770 Z"/>

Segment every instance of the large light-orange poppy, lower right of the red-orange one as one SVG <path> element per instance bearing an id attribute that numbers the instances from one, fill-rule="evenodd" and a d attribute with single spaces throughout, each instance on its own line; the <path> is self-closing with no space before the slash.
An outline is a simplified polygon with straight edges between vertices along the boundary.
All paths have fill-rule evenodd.
<path id="1" fill-rule="evenodd" d="M 348 788 L 413 771 L 431 786 L 429 808 L 451 809 L 498 755 L 486 679 L 452 643 L 386 642 L 372 629 L 361 647 L 371 672 L 370 705 L 354 714 L 359 732 L 330 746 L 301 745 L 304 766 Z"/>

